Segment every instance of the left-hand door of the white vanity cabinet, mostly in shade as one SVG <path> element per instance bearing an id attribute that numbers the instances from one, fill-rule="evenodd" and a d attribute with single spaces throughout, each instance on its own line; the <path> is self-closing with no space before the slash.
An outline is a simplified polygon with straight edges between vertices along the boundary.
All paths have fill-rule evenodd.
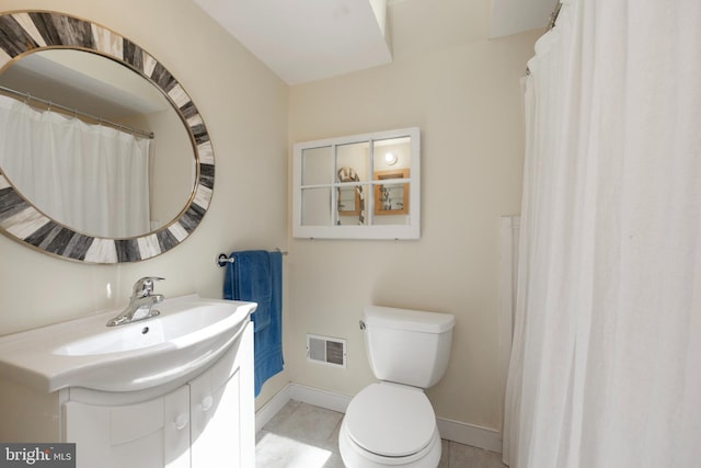
<path id="1" fill-rule="evenodd" d="M 78 468 L 189 467 L 189 389 L 116 407 L 64 404 Z"/>

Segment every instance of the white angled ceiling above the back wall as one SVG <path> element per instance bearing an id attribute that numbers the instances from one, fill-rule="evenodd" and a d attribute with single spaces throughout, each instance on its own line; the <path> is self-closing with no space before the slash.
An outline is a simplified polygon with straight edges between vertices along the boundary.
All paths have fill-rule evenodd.
<path id="1" fill-rule="evenodd" d="M 194 0 L 288 84 L 544 27 L 558 0 Z"/>

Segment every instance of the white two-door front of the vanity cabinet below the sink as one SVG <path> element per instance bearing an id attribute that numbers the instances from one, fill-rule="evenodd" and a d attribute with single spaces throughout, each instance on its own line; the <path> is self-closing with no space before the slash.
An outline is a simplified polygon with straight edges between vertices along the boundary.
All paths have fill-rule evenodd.
<path id="1" fill-rule="evenodd" d="M 69 391 L 61 438 L 76 443 L 79 468 L 254 467 L 252 323 L 204 373 L 165 395 L 139 397 Z"/>

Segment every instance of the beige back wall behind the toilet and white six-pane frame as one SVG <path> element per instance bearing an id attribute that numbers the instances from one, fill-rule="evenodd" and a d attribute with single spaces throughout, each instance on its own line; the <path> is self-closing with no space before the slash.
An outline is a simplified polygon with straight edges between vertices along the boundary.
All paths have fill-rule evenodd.
<path id="1" fill-rule="evenodd" d="M 290 88 L 290 144 L 421 127 L 423 217 L 418 241 L 290 242 L 294 381 L 355 395 L 374 380 L 358 328 L 367 304 L 450 312 L 451 362 L 428 396 L 438 416 L 499 427 L 498 222 L 519 212 L 519 78 L 537 37 L 468 42 Z M 347 369 L 308 363 L 306 333 L 347 339 Z"/>

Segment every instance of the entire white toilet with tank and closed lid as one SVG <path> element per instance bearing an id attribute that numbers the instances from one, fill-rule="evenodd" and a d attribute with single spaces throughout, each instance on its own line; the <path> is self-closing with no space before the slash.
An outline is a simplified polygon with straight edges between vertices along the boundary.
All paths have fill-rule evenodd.
<path id="1" fill-rule="evenodd" d="M 440 460 L 436 414 L 424 393 L 448 367 L 455 317 L 368 306 L 360 328 L 380 380 L 356 395 L 341 423 L 347 468 L 435 468 Z"/>

